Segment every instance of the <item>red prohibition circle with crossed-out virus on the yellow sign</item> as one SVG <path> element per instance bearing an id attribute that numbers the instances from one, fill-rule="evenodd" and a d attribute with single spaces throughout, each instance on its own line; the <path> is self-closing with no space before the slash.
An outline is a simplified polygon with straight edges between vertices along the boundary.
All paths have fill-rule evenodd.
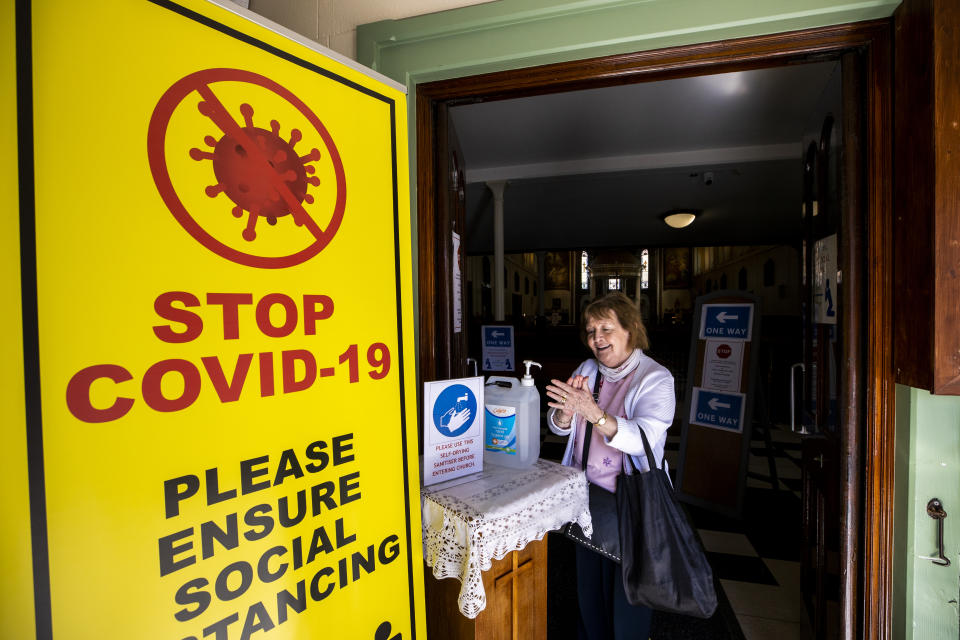
<path id="1" fill-rule="evenodd" d="M 229 92 L 220 91 L 221 83 L 230 87 Z M 242 89 L 243 100 L 239 104 L 242 121 L 235 119 L 237 102 L 231 109 L 228 100 L 221 95 L 236 95 Z M 269 129 L 255 124 L 254 104 L 259 92 L 273 94 L 283 99 L 293 110 L 287 109 L 301 123 L 300 128 L 290 126 L 289 134 L 283 133 L 278 120 L 269 121 Z M 196 146 L 184 148 L 179 155 L 175 146 L 168 149 L 168 128 L 175 113 L 183 109 L 196 109 L 206 117 L 218 135 L 206 135 L 203 141 L 208 149 Z M 193 111 L 196 113 L 196 111 Z M 263 118 L 266 121 L 267 118 Z M 178 119 L 177 122 L 181 122 Z M 211 131 L 211 134 L 215 131 Z M 200 135 L 203 135 L 202 132 Z M 179 136 L 178 136 L 179 137 Z M 173 139 L 178 139 L 175 137 Z M 322 142 L 317 147 L 300 155 L 297 144 L 305 138 Z M 307 146 L 307 145 L 304 145 Z M 168 153 L 173 155 L 168 158 Z M 147 132 L 147 155 L 150 170 L 157 190 L 173 216 L 184 229 L 203 246 L 234 262 L 260 268 L 282 268 L 300 264 L 317 255 L 330 242 L 340 223 L 346 206 L 346 178 L 340 154 L 333 138 L 320 119 L 291 91 L 260 74 L 239 69 L 207 69 L 181 78 L 163 94 L 157 102 Z M 171 160 L 172 158 L 172 160 Z M 179 163 L 178 158 L 202 162 L 212 168 L 205 193 L 211 198 L 210 210 L 192 205 L 188 210 L 178 192 L 168 167 L 168 161 Z M 322 163 L 321 163 L 322 161 Z M 321 185 L 315 165 L 325 167 L 324 175 L 334 180 Z M 209 171 L 209 169 L 207 169 Z M 179 175 L 179 174 L 177 174 Z M 195 187 L 183 187 L 193 189 Z M 326 197 L 322 202 L 332 210 L 317 210 L 315 198 L 308 191 L 313 188 L 332 190 L 335 197 Z M 222 195 L 221 195 L 222 194 Z M 326 194 L 331 195 L 330 191 Z M 232 201 L 232 206 L 222 197 Z M 195 202 L 195 200 L 191 200 Z M 219 203 L 219 205 L 217 204 Z M 246 223 L 238 229 L 237 242 L 229 238 L 214 237 L 206 227 L 217 207 L 224 214 L 229 210 L 237 218 L 247 214 Z M 262 255 L 257 251 L 257 238 L 266 233 L 257 230 L 260 218 L 267 224 L 280 227 L 279 221 L 289 219 L 288 231 L 296 227 L 304 232 L 299 235 L 282 236 L 290 245 L 286 255 Z M 325 223 L 321 221 L 326 221 Z M 276 232 L 274 232 L 276 233 Z M 242 239 L 241 239 L 242 238 Z M 239 246 L 237 246 L 239 245 Z M 276 246 L 276 242 L 273 244 Z"/>

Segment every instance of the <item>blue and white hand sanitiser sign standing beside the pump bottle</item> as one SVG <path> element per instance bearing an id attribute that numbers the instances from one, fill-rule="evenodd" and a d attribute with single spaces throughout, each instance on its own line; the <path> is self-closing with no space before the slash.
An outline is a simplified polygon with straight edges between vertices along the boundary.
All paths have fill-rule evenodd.
<path id="1" fill-rule="evenodd" d="M 483 469 L 483 377 L 423 385 L 423 484 Z"/>

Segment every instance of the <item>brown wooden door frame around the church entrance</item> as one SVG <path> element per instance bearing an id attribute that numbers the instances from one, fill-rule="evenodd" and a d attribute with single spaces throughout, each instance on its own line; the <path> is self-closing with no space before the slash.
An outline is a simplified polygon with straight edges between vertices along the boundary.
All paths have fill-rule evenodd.
<path id="1" fill-rule="evenodd" d="M 437 344 L 434 292 L 446 286 L 435 253 L 437 114 L 455 104 L 588 88 L 668 80 L 836 58 L 857 51 L 863 64 L 863 149 L 855 172 L 863 189 L 852 194 L 863 218 L 864 287 L 870 300 L 849 340 L 862 363 L 844 394 L 851 429 L 841 443 L 845 510 L 840 556 L 843 638 L 892 635 L 894 378 L 892 372 L 892 65 L 891 22 L 874 20 L 787 33 L 671 47 L 418 84 L 417 230 L 419 260 L 420 374 L 434 378 L 445 357 Z M 845 78 L 846 80 L 847 78 Z M 860 331 L 862 329 L 862 331 Z M 856 335 L 856 334 L 854 334 Z M 849 351 L 845 355 L 849 355 Z M 858 598 L 858 594 L 860 597 Z M 866 603 L 866 604 L 860 604 Z"/>

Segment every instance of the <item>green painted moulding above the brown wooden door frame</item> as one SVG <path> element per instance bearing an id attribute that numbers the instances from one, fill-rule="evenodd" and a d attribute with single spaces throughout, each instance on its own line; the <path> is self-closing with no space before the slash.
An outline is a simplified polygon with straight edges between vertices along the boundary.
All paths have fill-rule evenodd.
<path id="1" fill-rule="evenodd" d="M 400 82 L 884 18 L 900 0 L 500 0 L 357 28 Z"/>

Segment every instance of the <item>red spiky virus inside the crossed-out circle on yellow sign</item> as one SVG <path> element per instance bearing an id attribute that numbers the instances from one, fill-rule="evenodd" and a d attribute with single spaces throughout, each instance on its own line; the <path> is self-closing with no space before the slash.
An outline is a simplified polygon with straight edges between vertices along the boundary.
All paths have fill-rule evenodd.
<path id="1" fill-rule="evenodd" d="M 205 116 L 213 115 L 206 102 L 201 102 L 197 108 Z M 269 158 L 271 171 L 264 171 L 253 160 L 244 143 L 230 134 L 224 134 L 220 140 L 213 136 L 205 137 L 204 142 L 213 147 L 213 152 L 194 147 L 190 149 L 190 157 L 194 160 L 213 160 L 213 173 L 218 183 L 207 187 L 207 195 L 215 198 L 225 193 L 236 204 L 233 215 L 237 218 L 242 217 L 244 211 L 249 213 L 247 226 L 242 232 L 243 239 L 249 242 L 257 237 L 257 218 L 266 218 L 267 223 L 275 225 L 277 218 L 291 213 L 290 206 L 274 187 L 274 174 L 286 183 L 297 202 L 313 203 L 313 196 L 307 193 L 307 184 L 317 186 L 320 179 L 307 176 L 314 172 L 313 166 L 308 163 L 320 159 L 320 150 L 313 148 L 307 155 L 298 156 L 294 147 L 303 137 L 299 129 L 290 131 L 290 139 L 284 140 L 280 137 L 280 123 L 276 120 L 270 121 L 270 131 L 267 131 L 253 126 L 253 107 L 249 104 L 240 105 L 240 113 L 246 125 L 242 131 Z M 296 218 L 294 221 L 299 223 Z"/>

